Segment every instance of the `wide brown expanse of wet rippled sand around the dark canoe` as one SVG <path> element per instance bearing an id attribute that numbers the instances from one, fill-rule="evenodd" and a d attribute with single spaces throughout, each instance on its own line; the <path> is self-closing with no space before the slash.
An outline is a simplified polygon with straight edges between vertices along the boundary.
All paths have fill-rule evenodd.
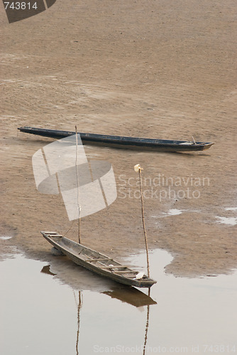
<path id="1" fill-rule="evenodd" d="M 82 219 L 82 243 L 118 259 L 144 249 L 133 171 L 140 163 L 149 247 L 175 257 L 166 272 L 237 267 L 236 11 L 232 0 L 57 0 L 11 25 L 1 12 L 0 235 L 13 236 L 0 240 L 2 255 L 16 246 L 50 261 L 39 231 L 71 226 L 62 197 L 35 188 L 32 155 L 52 140 L 17 127 L 77 124 L 82 132 L 215 143 L 189 154 L 85 146 L 88 159 L 113 164 L 118 198 Z M 77 240 L 76 223 L 67 236 Z"/>

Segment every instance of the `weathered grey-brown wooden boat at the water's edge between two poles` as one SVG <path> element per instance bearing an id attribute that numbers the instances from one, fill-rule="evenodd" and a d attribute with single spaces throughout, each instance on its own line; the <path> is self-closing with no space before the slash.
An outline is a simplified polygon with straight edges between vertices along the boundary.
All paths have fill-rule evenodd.
<path id="1" fill-rule="evenodd" d="M 118 261 L 98 251 L 89 249 L 87 246 L 71 241 L 55 231 L 41 231 L 41 233 L 57 250 L 64 253 L 79 266 L 83 266 L 94 273 L 118 283 L 138 288 L 150 288 L 156 283 L 155 280 L 148 278 L 148 276 L 140 275 L 142 273 L 123 266 Z"/>

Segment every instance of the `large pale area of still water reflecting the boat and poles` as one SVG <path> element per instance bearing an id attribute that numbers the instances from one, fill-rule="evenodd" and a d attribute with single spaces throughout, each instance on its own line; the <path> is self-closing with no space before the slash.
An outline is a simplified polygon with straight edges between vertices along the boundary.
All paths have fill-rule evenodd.
<path id="1" fill-rule="evenodd" d="M 170 261 L 166 251 L 150 253 L 150 274 L 158 281 L 150 296 L 87 271 L 91 290 L 73 289 L 55 275 L 57 264 L 51 270 L 21 255 L 2 261 L 1 354 L 237 353 L 237 273 L 175 278 L 164 273 Z M 145 271 L 144 254 L 126 262 Z M 81 277 L 79 266 L 73 270 Z"/>

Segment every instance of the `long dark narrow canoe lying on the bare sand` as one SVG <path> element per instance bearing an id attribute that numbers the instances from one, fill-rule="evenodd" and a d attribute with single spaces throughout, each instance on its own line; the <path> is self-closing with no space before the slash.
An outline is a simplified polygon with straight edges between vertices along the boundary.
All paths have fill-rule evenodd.
<path id="1" fill-rule="evenodd" d="M 75 132 L 71 131 L 57 131 L 55 129 L 37 129 L 34 127 L 19 127 L 21 132 L 35 134 L 37 136 L 49 138 L 65 138 L 72 136 Z M 185 151 L 204 151 L 210 148 L 214 143 L 194 142 L 194 141 L 167 141 L 165 139 L 151 139 L 151 138 L 136 138 L 123 136 L 106 136 L 105 134 L 81 133 L 79 135 L 82 143 L 113 146 L 116 148 L 146 148 L 154 149 L 156 151 L 167 152 L 185 152 Z"/>

